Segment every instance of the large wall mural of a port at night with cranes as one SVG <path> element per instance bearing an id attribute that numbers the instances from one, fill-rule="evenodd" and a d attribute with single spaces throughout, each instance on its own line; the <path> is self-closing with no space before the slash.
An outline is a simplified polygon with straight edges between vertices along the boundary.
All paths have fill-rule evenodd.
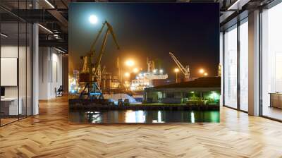
<path id="1" fill-rule="evenodd" d="M 71 3 L 71 123 L 219 122 L 219 6 Z"/>

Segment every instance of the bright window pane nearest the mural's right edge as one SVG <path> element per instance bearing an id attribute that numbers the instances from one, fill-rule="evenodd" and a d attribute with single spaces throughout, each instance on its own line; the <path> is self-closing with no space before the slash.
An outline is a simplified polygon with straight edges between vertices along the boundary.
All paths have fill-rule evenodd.
<path id="1" fill-rule="evenodd" d="M 224 104 L 237 108 L 237 28 L 224 34 Z"/>

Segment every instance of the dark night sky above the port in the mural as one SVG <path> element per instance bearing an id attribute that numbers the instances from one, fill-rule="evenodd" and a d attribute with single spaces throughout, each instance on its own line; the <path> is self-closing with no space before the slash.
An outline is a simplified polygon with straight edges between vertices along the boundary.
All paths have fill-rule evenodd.
<path id="1" fill-rule="evenodd" d="M 95 15 L 93 25 L 89 17 Z M 192 77 L 199 75 L 199 68 L 216 75 L 219 64 L 219 6 L 218 4 L 188 3 L 72 3 L 69 7 L 69 72 L 80 69 L 83 56 L 90 51 L 104 20 L 114 28 L 121 49 L 108 37 L 102 65 L 115 72 L 116 58 L 121 64 L 126 59 L 135 60 L 136 66 L 147 70 L 146 58 L 155 61 L 156 68 L 164 69 L 168 78 L 175 78 L 178 60 L 190 65 Z M 105 32 L 106 30 L 104 30 Z M 103 36 L 102 36 L 103 37 Z M 97 51 L 100 49 L 97 44 Z M 97 56 L 96 56 L 97 57 Z"/>

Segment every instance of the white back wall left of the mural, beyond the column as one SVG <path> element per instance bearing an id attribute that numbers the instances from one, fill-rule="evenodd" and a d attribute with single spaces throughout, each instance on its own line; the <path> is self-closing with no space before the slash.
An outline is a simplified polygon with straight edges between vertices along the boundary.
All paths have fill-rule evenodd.
<path id="1" fill-rule="evenodd" d="M 39 47 L 39 99 L 56 97 L 62 85 L 62 55 L 51 47 Z"/>

